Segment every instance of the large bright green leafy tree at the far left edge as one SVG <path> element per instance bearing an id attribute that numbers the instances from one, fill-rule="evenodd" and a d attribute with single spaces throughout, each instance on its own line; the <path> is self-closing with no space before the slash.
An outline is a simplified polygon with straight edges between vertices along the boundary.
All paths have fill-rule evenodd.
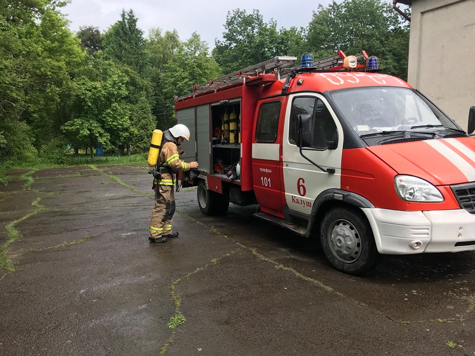
<path id="1" fill-rule="evenodd" d="M 0 160 L 31 158 L 59 132 L 84 53 L 54 0 L 0 7 Z M 33 131 L 31 130 L 33 128 Z"/>

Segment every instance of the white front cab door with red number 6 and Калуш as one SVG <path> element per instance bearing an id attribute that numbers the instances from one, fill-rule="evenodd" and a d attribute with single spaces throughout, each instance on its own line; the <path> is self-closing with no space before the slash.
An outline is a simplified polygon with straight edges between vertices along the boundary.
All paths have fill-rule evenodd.
<path id="1" fill-rule="evenodd" d="M 303 155 L 324 169 L 333 168 L 335 173 L 323 172 L 300 154 L 298 115 L 311 115 L 313 121 L 312 142 L 310 147 L 302 148 Z M 329 142 L 336 146 L 332 147 Z M 296 93 L 289 96 L 282 146 L 285 203 L 292 211 L 310 214 L 321 192 L 341 185 L 343 129 L 323 95 Z"/>

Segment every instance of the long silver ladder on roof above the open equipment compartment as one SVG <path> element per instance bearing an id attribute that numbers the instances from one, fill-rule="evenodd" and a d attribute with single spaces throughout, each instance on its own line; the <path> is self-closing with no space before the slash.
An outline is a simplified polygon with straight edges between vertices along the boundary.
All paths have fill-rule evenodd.
<path id="1" fill-rule="evenodd" d="M 264 74 L 265 71 L 268 69 L 277 70 L 277 74 L 279 74 L 282 68 L 295 64 L 296 60 L 297 60 L 297 57 L 290 57 L 290 56 L 274 57 L 264 62 L 254 64 L 250 67 L 213 79 L 212 81 L 194 85 L 193 88 L 190 89 L 190 91 L 195 92 L 195 91 L 200 91 L 200 90 L 209 90 L 209 89 L 213 89 L 215 87 L 219 87 L 222 85 L 237 83 L 243 80 L 244 78 L 257 76 L 259 74 Z"/>

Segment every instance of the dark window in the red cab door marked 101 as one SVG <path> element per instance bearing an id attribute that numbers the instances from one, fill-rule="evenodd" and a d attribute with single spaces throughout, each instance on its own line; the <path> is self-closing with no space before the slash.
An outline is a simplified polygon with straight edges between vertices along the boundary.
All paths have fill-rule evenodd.
<path id="1" fill-rule="evenodd" d="M 277 140 L 280 112 L 280 101 L 266 102 L 259 107 L 256 125 L 256 142 L 275 142 Z"/>

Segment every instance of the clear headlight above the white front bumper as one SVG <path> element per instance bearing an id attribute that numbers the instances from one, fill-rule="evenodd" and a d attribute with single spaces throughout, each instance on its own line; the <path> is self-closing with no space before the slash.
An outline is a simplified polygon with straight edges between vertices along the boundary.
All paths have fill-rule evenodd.
<path id="1" fill-rule="evenodd" d="M 394 178 L 396 193 L 402 200 L 413 202 L 438 203 L 444 201 L 442 193 L 427 180 L 400 175 Z"/>

